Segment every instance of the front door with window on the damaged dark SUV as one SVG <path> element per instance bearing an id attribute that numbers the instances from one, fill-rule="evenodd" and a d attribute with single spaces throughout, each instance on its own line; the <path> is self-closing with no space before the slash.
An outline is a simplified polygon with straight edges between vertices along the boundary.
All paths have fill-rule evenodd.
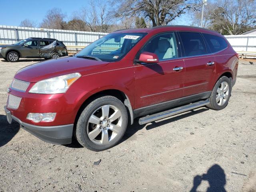
<path id="1" fill-rule="evenodd" d="M 24 43 L 20 48 L 20 52 L 22 57 L 39 58 L 38 40 L 32 40 Z"/>

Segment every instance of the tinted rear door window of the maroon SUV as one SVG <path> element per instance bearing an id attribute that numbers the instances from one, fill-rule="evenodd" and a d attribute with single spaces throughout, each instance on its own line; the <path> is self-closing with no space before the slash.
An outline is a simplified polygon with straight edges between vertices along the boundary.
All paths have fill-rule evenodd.
<path id="1" fill-rule="evenodd" d="M 200 33 L 179 32 L 186 56 L 206 54 L 204 40 Z"/>

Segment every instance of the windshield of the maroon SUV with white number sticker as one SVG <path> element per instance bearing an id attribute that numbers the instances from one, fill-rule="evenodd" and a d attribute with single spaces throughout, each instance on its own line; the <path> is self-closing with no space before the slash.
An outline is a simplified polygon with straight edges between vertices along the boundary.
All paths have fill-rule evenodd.
<path id="1" fill-rule="evenodd" d="M 110 33 L 86 46 L 75 56 L 107 62 L 122 59 L 147 33 Z"/>

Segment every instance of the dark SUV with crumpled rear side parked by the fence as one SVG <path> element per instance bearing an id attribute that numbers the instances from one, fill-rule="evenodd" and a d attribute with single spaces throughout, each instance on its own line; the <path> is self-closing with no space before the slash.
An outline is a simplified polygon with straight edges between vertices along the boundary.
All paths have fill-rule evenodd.
<path id="1" fill-rule="evenodd" d="M 63 42 L 50 38 L 27 38 L 12 45 L 0 46 L 0 58 L 17 62 L 19 58 L 58 58 L 67 56 Z"/>

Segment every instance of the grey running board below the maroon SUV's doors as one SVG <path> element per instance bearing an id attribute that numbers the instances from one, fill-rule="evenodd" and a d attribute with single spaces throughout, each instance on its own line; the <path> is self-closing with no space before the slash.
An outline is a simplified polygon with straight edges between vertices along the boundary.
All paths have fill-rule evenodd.
<path id="1" fill-rule="evenodd" d="M 179 113 L 183 113 L 183 112 L 186 112 L 186 111 L 198 108 L 198 107 L 205 106 L 209 103 L 210 103 L 209 100 L 198 101 L 198 102 L 190 103 L 188 105 L 184 105 L 184 106 L 181 106 L 181 107 L 177 107 L 177 108 L 173 108 L 173 109 L 170 109 L 170 110 L 167 110 L 167 111 L 163 111 L 163 112 L 160 112 L 160 113 L 148 115 L 148 116 L 140 118 L 139 119 L 139 124 L 143 125 L 143 124 L 146 124 L 146 123 L 149 123 L 149 122 L 152 122 L 152 121 L 160 120 L 160 119 L 170 117 L 170 116 L 173 116 L 173 115 L 176 115 L 176 114 L 179 114 Z"/>

